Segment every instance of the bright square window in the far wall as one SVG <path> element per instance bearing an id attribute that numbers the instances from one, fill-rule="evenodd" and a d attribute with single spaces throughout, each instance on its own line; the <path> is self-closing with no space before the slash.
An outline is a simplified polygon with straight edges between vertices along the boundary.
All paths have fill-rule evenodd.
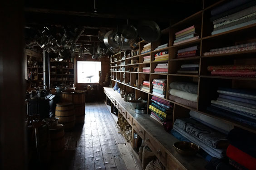
<path id="1" fill-rule="evenodd" d="M 98 83 L 101 61 L 77 61 L 77 82 Z"/>

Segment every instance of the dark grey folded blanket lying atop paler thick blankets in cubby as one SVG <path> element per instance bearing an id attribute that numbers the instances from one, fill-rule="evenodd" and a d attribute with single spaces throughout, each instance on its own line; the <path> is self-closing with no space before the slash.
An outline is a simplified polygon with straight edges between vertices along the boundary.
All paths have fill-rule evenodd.
<path id="1" fill-rule="evenodd" d="M 188 83 L 183 81 L 174 81 L 170 83 L 171 89 L 182 90 L 188 93 L 197 94 L 198 85 L 196 83 Z"/>

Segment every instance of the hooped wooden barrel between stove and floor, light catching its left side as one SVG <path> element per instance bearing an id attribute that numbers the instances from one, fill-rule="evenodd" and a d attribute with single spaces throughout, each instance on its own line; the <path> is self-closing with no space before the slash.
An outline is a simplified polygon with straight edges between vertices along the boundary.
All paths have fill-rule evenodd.
<path id="1" fill-rule="evenodd" d="M 55 108 L 55 118 L 59 118 L 58 123 L 64 125 L 65 130 L 70 130 L 75 125 L 74 105 L 72 103 L 57 103 Z"/>

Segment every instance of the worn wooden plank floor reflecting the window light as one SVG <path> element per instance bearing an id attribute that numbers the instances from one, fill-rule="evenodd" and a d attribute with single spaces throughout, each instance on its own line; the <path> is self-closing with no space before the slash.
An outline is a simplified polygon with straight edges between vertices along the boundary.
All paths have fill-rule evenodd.
<path id="1" fill-rule="evenodd" d="M 65 132 L 61 157 L 51 170 L 139 170 L 104 102 L 86 103 L 85 123 Z"/>

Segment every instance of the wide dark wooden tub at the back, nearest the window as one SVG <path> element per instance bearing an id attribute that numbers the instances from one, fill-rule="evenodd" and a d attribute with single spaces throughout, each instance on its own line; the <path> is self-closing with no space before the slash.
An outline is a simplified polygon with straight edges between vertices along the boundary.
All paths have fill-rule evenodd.
<path id="1" fill-rule="evenodd" d="M 72 102 L 76 104 L 84 104 L 84 91 L 82 90 L 64 90 L 60 94 L 61 102 Z"/>

